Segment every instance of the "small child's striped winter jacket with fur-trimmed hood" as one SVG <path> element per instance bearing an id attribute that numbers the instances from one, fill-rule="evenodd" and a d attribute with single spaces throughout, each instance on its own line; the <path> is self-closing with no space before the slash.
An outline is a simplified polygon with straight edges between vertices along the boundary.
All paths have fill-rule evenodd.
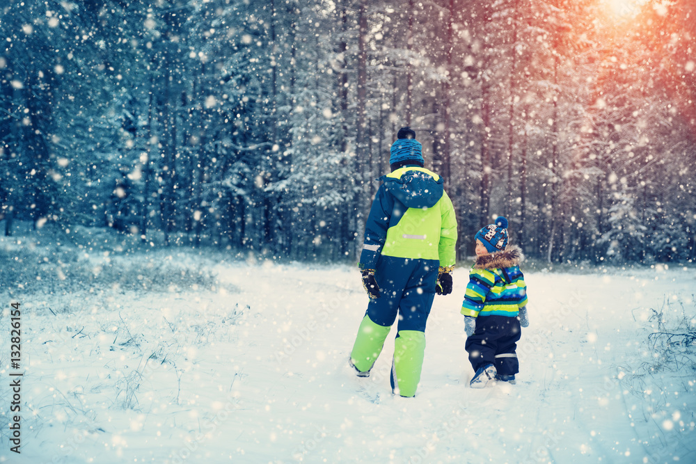
<path id="1" fill-rule="evenodd" d="M 469 271 L 461 314 L 516 317 L 519 308 L 527 305 L 527 285 L 519 268 L 523 259 L 515 245 L 477 257 Z"/>

